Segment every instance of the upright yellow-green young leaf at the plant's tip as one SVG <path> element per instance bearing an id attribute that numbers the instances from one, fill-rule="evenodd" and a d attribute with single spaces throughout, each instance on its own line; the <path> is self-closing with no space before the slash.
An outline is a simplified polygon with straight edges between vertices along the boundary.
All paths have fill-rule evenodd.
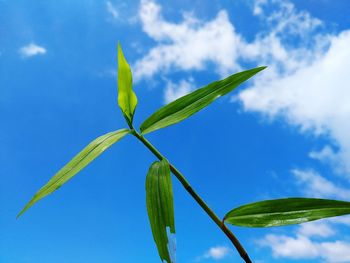
<path id="1" fill-rule="evenodd" d="M 132 90 L 132 74 L 118 43 L 118 105 L 129 125 L 132 124 L 137 97 Z"/>

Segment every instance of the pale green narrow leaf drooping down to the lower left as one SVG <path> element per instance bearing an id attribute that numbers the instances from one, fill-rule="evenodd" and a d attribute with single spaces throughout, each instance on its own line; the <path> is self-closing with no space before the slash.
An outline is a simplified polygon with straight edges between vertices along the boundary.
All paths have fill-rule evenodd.
<path id="1" fill-rule="evenodd" d="M 70 180 L 80 170 L 92 162 L 97 156 L 108 149 L 112 144 L 119 141 L 126 134 L 130 133 L 128 129 L 121 129 L 102 135 L 92 141 L 80 153 L 78 153 L 69 163 L 59 170 L 29 201 L 29 203 L 17 215 L 19 218 L 25 211 L 40 199 L 51 194 L 60 188 L 64 183 Z"/>

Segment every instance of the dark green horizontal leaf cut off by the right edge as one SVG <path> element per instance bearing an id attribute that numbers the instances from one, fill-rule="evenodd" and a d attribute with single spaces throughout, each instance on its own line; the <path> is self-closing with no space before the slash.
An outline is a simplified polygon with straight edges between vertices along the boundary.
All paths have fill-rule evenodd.
<path id="1" fill-rule="evenodd" d="M 350 214 L 350 202 L 285 198 L 240 206 L 228 212 L 224 221 L 236 226 L 271 227 L 300 224 L 346 214 Z"/>

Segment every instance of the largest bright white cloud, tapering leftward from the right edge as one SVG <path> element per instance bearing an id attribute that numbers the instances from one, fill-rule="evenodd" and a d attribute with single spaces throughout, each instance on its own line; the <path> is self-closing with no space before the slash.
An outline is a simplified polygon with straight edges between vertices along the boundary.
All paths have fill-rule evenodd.
<path id="1" fill-rule="evenodd" d="M 315 54 L 318 58 L 311 65 L 301 65 L 286 76 L 262 74 L 239 97 L 247 110 L 283 116 L 303 130 L 330 134 L 350 147 L 348 133 L 344 134 L 350 129 L 345 121 L 350 114 L 349 45 L 350 31 L 334 36 L 328 51 Z"/>

